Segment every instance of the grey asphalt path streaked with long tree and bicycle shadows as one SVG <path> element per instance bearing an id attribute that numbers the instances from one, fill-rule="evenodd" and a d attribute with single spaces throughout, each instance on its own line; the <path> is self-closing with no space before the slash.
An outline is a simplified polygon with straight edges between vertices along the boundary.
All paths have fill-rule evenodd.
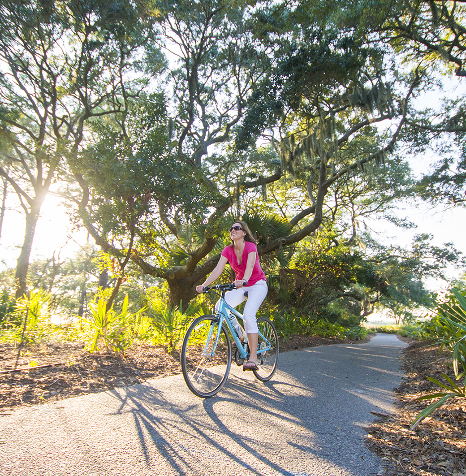
<path id="1" fill-rule="evenodd" d="M 177 375 L 20 408 L 0 416 L 0 475 L 380 475 L 364 428 L 393 408 L 405 346 L 287 352 L 265 384 L 232 364 L 210 399 Z"/>

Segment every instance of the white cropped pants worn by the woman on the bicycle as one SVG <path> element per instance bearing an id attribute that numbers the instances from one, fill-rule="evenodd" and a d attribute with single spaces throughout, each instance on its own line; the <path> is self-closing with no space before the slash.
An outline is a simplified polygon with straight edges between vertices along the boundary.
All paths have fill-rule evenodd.
<path id="1" fill-rule="evenodd" d="M 246 291 L 247 297 L 244 296 Z M 243 310 L 243 324 L 246 334 L 257 334 L 258 332 L 256 314 L 262 301 L 267 296 L 267 291 L 267 282 L 262 279 L 252 286 L 243 286 L 242 288 L 233 289 L 225 293 L 225 300 L 227 304 L 230 304 L 232 307 L 238 306 L 247 299 Z M 219 301 L 215 304 L 215 310 L 217 312 L 219 310 L 218 305 Z"/>

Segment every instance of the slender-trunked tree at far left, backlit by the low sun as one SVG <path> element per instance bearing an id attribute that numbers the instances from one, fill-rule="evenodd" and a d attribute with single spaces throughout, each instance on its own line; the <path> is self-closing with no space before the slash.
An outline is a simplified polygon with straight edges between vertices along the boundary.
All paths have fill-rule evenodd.
<path id="1" fill-rule="evenodd" d="M 136 64 L 152 34 L 150 2 L 5 0 L 0 15 L 0 176 L 25 217 L 16 296 L 26 291 L 36 224 L 96 118 L 124 113 L 143 84 Z M 128 78 L 127 73 L 132 75 Z"/>

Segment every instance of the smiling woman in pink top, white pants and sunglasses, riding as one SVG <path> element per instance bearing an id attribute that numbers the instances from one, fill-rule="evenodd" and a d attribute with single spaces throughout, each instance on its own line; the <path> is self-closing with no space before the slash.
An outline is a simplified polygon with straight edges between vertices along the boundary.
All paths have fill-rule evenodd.
<path id="1" fill-rule="evenodd" d="M 244 363 L 243 370 L 257 370 L 256 313 L 267 296 L 267 282 L 265 273 L 259 264 L 256 240 L 252 237 L 246 223 L 235 222 L 229 231 L 233 244 L 224 248 L 217 266 L 204 283 L 196 287 L 196 291 L 202 293 L 204 287 L 209 286 L 222 274 L 227 262 L 230 263 L 235 273 L 234 285 L 236 289 L 226 293 L 225 300 L 232 307 L 236 307 L 247 299 L 243 310 L 243 323 L 250 356 L 249 360 Z M 247 284 L 244 285 L 244 282 Z"/>

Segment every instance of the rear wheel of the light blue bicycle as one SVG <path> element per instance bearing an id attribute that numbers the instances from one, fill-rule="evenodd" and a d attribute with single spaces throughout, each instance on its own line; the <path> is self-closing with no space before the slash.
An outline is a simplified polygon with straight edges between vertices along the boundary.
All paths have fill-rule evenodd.
<path id="1" fill-rule="evenodd" d="M 280 354 L 277 331 L 270 319 L 259 317 L 257 319 L 259 328 L 259 341 L 257 344 L 257 366 L 258 370 L 253 370 L 254 375 L 263 382 L 270 380 L 277 370 L 278 357 Z M 268 349 L 268 350 L 264 350 Z M 264 350 L 263 352 L 260 352 Z"/>

